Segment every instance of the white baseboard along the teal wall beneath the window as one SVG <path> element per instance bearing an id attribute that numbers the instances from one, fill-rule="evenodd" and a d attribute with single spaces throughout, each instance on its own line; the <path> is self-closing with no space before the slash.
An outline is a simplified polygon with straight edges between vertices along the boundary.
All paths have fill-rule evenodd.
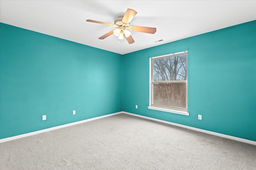
<path id="1" fill-rule="evenodd" d="M 149 120 L 153 120 L 153 121 L 159 121 L 159 122 L 166 123 L 166 124 L 169 124 L 169 125 L 184 127 L 184 128 L 186 128 L 186 129 L 191 129 L 191 130 L 194 130 L 194 131 L 199 131 L 199 132 L 203 132 L 203 133 L 208 133 L 208 134 L 210 134 L 210 135 L 215 135 L 215 136 L 219 136 L 219 137 L 224 137 L 224 138 L 232 139 L 232 140 L 235 140 L 235 141 L 240 141 L 240 142 L 244 142 L 244 143 L 249 143 L 249 144 L 252 144 L 252 145 L 256 145 L 256 142 L 255 142 L 255 141 L 250 141 L 250 140 L 242 139 L 242 138 L 239 138 L 239 137 L 233 137 L 233 136 L 224 135 L 224 134 L 221 134 L 221 133 L 216 133 L 216 132 L 212 132 L 212 131 L 206 131 L 206 130 L 198 129 L 198 128 L 195 128 L 195 127 L 190 127 L 190 126 L 186 126 L 186 125 L 180 125 L 180 124 L 178 124 L 178 123 L 172 123 L 172 122 L 169 122 L 169 121 L 164 121 L 164 120 L 160 120 L 160 119 L 154 119 L 154 118 L 146 117 L 146 116 L 142 116 L 142 115 L 136 115 L 136 114 L 134 114 L 134 113 L 128 113 L 128 112 L 125 112 L 125 111 L 123 111 L 122 113 L 125 113 L 125 114 L 128 114 L 128 115 L 137 116 L 137 117 L 142 117 L 142 118 L 144 118 L 144 119 L 149 119 Z"/>

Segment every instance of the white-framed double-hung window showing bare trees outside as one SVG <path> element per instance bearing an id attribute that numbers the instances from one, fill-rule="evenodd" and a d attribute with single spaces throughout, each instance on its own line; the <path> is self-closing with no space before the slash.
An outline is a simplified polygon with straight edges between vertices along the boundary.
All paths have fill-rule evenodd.
<path id="1" fill-rule="evenodd" d="M 150 58 L 149 109 L 187 112 L 187 51 Z"/>

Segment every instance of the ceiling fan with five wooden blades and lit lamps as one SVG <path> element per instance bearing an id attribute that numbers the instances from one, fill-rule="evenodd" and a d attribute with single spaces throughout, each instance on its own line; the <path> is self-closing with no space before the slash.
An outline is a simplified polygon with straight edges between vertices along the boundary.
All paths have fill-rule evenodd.
<path id="1" fill-rule="evenodd" d="M 118 17 L 114 21 L 114 24 L 101 22 L 101 21 L 95 21 L 95 20 L 86 20 L 86 21 L 116 27 L 116 29 L 109 31 L 108 33 L 102 35 L 101 37 L 99 37 L 99 39 L 105 39 L 106 37 L 114 34 L 114 35 L 118 36 L 118 39 L 124 39 L 124 37 L 125 37 L 125 39 L 128 41 L 128 43 L 132 44 L 132 43 L 134 43 L 134 39 L 132 38 L 130 31 L 137 31 L 137 32 L 151 33 L 151 34 L 154 34 L 156 32 L 156 28 L 130 25 L 130 21 L 134 18 L 134 16 L 136 14 L 137 14 L 137 12 L 135 10 L 127 9 L 124 16 Z M 130 31 L 128 31 L 128 30 L 130 30 Z"/>

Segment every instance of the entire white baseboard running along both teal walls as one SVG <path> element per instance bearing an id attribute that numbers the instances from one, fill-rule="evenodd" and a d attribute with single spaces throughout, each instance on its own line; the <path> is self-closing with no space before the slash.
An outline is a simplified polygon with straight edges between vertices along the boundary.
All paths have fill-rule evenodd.
<path id="1" fill-rule="evenodd" d="M 256 145 L 256 141 L 250 141 L 250 140 L 247 140 L 247 139 L 242 139 L 242 138 L 238 138 L 238 137 L 224 135 L 224 134 L 221 134 L 221 133 L 216 133 L 216 132 L 212 132 L 212 131 L 206 131 L 206 130 L 203 130 L 203 129 L 198 129 L 198 128 L 190 127 L 190 126 L 186 126 L 186 125 L 180 125 L 178 123 L 172 123 L 172 122 L 164 121 L 164 120 L 160 120 L 160 119 L 154 119 L 152 117 L 146 117 L 146 116 L 142 116 L 142 115 L 137 115 L 137 114 L 129 113 L 129 112 L 126 112 L 126 111 L 120 111 L 120 112 L 116 112 L 116 113 L 112 113 L 112 114 L 108 114 L 108 115 L 104 115 L 104 116 L 100 116 L 100 117 L 94 117 L 94 118 L 91 118 L 91 119 L 77 121 L 77 122 L 74 122 L 74 123 L 68 123 L 66 125 L 60 125 L 60 126 L 51 127 L 51 128 L 48 128 L 48 129 L 43 129 L 43 130 L 40 130 L 40 131 L 35 131 L 35 132 L 31 132 L 31 133 L 17 135 L 17 136 L 14 136 L 14 137 L 8 137 L 8 138 L 0 139 L 0 143 L 7 142 L 7 141 L 12 141 L 12 140 L 15 140 L 15 139 L 20 139 L 20 138 L 23 138 L 23 137 L 28 137 L 28 136 L 36 135 L 36 134 L 39 134 L 39 133 L 44 133 L 44 132 L 52 131 L 52 130 L 55 130 L 55 129 L 60 129 L 60 128 L 63 128 L 63 127 L 77 125 L 77 124 L 80 124 L 80 123 L 85 123 L 85 122 L 88 122 L 88 121 L 93 121 L 93 120 L 101 119 L 101 118 L 104 118 L 104 117 L 118 115 L 120 113 L 124 113 L 124 114 L 128 114 L 128 115 L 133 115 L 133 116 L 137 116 L 137 117 L 142 117 L 144 119 L 158 121 L 158 122 L 161 122 L 161 123 L 166 123 L 166 124 L 169 124 L 169 125 L 183 127 L 183 128 L 186 128 L 186 129 L 191 129 L 191 130 L 199 131 L 199 132 L 202 132 L 202 133 L 208 133 L 210 135 L 215 135 L 215 136 L 224 137 L 224 138 L 227 138 L 227 139 L 232 139 L 234 141 L 239 141 L 239 142 L 243 142 L 243 143 L 249 143 L 251 145 Z"/>

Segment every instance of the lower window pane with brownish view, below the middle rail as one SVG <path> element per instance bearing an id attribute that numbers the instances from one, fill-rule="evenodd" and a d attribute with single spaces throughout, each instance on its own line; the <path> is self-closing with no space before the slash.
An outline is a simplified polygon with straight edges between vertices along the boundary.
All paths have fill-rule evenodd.
<path id="1" fill-rule="evenodd" d="M 186 108 L 186 83 L 153 83 L 153 104 Z"/>

